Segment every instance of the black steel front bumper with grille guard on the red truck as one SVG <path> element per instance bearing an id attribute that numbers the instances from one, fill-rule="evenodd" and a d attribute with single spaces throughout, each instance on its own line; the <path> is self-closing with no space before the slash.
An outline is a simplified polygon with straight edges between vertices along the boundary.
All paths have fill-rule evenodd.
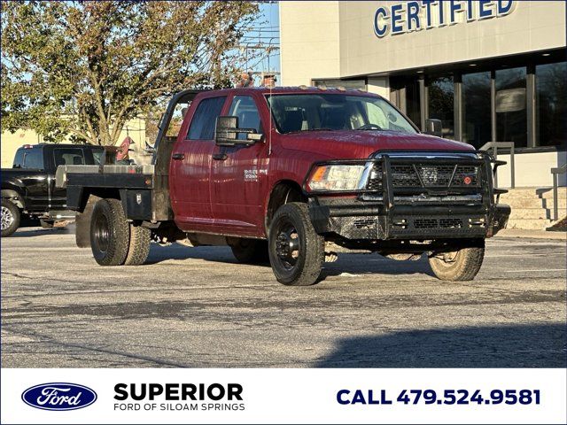
<path id="1" fill-rule="evenodd" d="M 349 240 L 491 237 L 506 227 L 510 214 L 509 205 L 498 204 L 498 195 L 505 190 L 493 188 L 493 173 L 503 163 L 494 161 L 485 152 L 475 153 L 478 158 L 434 158 L 431 155 L 427 158 L 396 158 L 383 153 L 379 159 L 348 161 L 351 164 L 374 164 L 381 170 L 378 188 L 367 185 L 349 193 L 310 193 L 306 180 L 304 190 L 309 198 L 309 215 L 315 231 Z M 324 163 L 314 167 L 321 164 Z M 433 187 L 420 178 L 421 185 L 409 187 L 392 177 L 399 176 L 395 174 L 399 166 L 409 166 L 410 171 L 416 170 L 416 175 L 420 166 L 454 166 L 454 171 L 447 186 L 438 184 Z M 453 184 L 457 166 L 477 167 L 474 185 Z"/>

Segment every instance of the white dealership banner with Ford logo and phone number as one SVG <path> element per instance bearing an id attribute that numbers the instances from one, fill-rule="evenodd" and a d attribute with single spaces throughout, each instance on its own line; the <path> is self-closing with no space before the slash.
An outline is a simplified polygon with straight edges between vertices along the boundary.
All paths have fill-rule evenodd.
<path id="1" fill-rule="evenodd" d="M 2 423 L 564 423 L 565 369 L 2 369 Z"/>

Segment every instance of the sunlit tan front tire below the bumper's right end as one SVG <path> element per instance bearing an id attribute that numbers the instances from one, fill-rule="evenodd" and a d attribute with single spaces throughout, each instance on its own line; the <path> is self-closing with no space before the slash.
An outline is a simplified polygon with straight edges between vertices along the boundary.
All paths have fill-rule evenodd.
<path id="1" fill-rule="evenodd" d="M 430 257 L 433 273 L 442 281 L 472 281 L 485 258 L 485 240 L 452 252 L 438 252 Z"/>

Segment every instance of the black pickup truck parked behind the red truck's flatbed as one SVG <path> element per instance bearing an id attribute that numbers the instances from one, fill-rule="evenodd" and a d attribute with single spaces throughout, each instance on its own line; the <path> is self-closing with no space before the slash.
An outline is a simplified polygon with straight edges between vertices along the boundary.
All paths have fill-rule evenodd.
<path id="1" fill-rule="evenodd" d="M 74 218 L 66 208 L 66 189 L 55 186 L 58 166 L 96 165 L 104 149 L 80 144 L 26 144 L 16 151 L 12 168 L 3 168 L 2 236 L 19 228 L 23 214 L 51 227 L 56 220 Z"/>

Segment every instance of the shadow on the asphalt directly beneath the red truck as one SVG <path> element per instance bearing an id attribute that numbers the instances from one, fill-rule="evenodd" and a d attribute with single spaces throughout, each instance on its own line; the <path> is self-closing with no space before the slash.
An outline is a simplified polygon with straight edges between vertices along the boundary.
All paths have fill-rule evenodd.
<path id="1" fill-rule="evenodd" d="M 169 246 L 151 245 L 150 257 L 145 262 L 146 265 L 158 264 L 170 259 L 202 259 L 214 263 L 238 264 L 237 259 L 232 255 L 229 247 L 219 246 L 199 246 L 196 248 L 184 247 L 178 243 Z M 241 265 L 241 267 L 247 267 Z M 255 267 L 267 267 L 269 263 L 255 265 Z M 338 261 L 325 263 L 321 278 L 318 282 L 323 282 L 331 276 L 341 274 L 427 274 L 434 276 L 426 258 L 416 261 L 396 261 L 385 259 L 378 254 L 369 253 L 339 253 Z"/>

